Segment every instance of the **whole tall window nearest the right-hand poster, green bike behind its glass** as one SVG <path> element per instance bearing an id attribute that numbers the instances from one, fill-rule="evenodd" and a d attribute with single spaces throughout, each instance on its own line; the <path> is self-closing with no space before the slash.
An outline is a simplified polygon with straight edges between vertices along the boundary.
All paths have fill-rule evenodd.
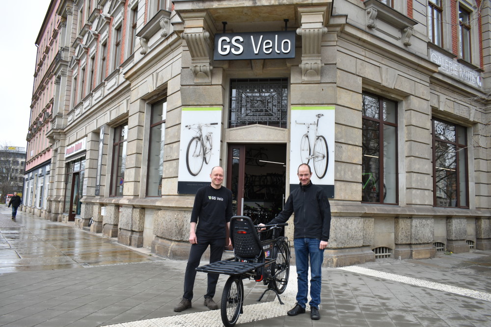
<path id="1" fill-rule="evenodd" d="M 397 204 L 397 103 L 362 95 L 362 201 Z"/>

